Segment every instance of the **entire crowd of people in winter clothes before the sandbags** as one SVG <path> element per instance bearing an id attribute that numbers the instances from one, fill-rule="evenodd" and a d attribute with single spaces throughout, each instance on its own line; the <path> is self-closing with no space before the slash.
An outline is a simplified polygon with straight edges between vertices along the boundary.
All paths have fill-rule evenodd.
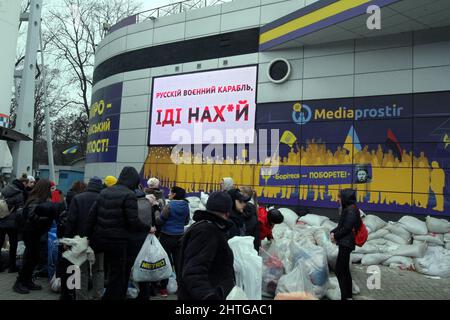
<path id="1" fill-rule="evenodd" d="M 222 179 L 221 190 L 209 195 L 206 209 L 192 216 L 185 189 L 173 186 L 166 199 L 157 178 L 150 178 L 145 187 L 140 181 L 135 168 L 125 167 L 118 179 L 93 177 L 87 185 L 74 183 L 65 199 L 46 179 L 23 176 L 4 187 L 1 194 L 11 213 L 0 219 L 0 241 L 3 244 L 8 235 L 9 272 L 18 272 L 13 290 L 20 294 L 42 290 L 34 282 L 41 239 L 56 223 L 58 238 L 87 239 L 95 256 L 93 263 L 86 260 L 80 266 L 80 286 L 72 288 L 67 272 L 72 263 L 66 254 L 71 248 L 59 245 L 55 277 L 61 279 L 62 300 L 125 299 L 133 265 L 149 234 L 158 237 L 170 258 L 179 299 L 225 299 L 235 283 L 228 240 L 252 236 L 259 251 L 261 240 L 272 240 L 274 225 L 284 219 L 279 210 L 259 205 L 252 188 L 239 189 L 231 178 Z M 338 279 L 343 288 L 350 279 L 351 295 L 348 259 L 354 249 L 352 229 L 360 220 L 349 209 L 356 204 L 356 195 L 346 192 L 342 193 L 343 221 L 331 237 L 340 248 Z M 16 265 L 18 240 L 25 244 L 20 269 Z M 167 297 L 168 282 L 138 283 L 137 299 L 149 300 L 158 293 Z"/>

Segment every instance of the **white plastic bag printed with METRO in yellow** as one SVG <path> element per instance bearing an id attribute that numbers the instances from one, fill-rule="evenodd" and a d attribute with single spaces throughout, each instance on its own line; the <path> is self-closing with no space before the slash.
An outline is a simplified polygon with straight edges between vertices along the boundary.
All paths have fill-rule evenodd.
<path id="1" fill-rule="evenodd" d="M 169 279 L 172 274 L 172 265 L 169 256 L 162 247 L 158 238 L 150 234 L 133 266 L 133 280 L 135 282 L 156 282 Z"/>

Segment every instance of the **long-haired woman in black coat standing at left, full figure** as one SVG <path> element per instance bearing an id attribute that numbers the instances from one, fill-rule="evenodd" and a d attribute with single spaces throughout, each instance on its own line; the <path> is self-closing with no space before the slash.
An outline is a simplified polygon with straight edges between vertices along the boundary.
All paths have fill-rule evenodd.
<path id="1" fill-rule="evenodd" d="M 22 269 L 13 287 L 13 290 L 20 294 L 29 293 L 30 290 L 42 290 L 41 286 L 32 281 L 33 271 L 39 263 L 40 239 L 50 230 L 53 220 L 57 219 L 65 208 L 62 203 L 49 201 L 50 189 L 50 181 L 39 180 L 22 210 L 25 252 Z"/>

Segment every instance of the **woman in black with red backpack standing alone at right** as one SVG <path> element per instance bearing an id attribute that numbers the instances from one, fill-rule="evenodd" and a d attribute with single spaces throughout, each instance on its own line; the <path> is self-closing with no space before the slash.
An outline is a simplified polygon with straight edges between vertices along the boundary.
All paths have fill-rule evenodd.
<path id="1" fill-rule="evenodd" d="M 361 216 L 356 206 L 356 191 L 342 190 L 339 194 L 340 219 L 338 226 L 331 231 L 331 240 L 339 246 L 336 260 L 336 277 L 341 289 L 341 299 L 352 299 L 352 275 L 350 274 L 350 254 L 355 250 L 353 230 L 361 226 Z"/>

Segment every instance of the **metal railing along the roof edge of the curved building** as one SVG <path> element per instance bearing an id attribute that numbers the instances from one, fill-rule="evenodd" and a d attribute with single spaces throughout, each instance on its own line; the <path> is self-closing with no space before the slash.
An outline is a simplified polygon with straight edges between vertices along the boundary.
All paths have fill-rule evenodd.
<path id="1" fill-rule="evenodd" d="M 190 10 L 211 7 L 222 3 L 230 2 L 233 0 L 185 0 L 175 2 L 162 7 L 146 10 L 136 15 L 136 22 L 142 22 L 145 20 L 154 20 L 161 17 L 169 16 L 172 14 L 178 14 L 187 12 Z"/>

